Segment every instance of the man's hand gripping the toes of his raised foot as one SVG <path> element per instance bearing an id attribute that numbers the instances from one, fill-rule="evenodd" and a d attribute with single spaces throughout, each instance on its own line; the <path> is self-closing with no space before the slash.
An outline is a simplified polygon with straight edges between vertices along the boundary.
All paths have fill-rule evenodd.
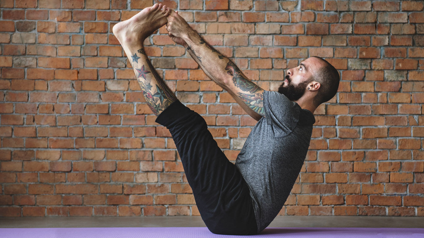
<path id="1" fill-rule="evenodd" d="M 171 10 L 167 20 L 166 30 L 168 31 L 168 36 L 173 40 L 173 42 L 187 47 L 187 43 L 181 38 L 181 36 L 183 32 L 192 30 L 192 28 L 188 25 L 184 18 L 178 14 L 178 11 Z"/>

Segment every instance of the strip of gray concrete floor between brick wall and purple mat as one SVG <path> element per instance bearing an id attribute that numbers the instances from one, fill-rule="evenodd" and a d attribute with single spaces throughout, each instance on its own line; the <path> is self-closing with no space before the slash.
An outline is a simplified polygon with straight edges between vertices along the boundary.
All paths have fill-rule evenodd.
<path id="1" fill-rule="evenodd" d="M 0 217 L 0 228 L 45 227 L 204 227 L 199 216 L 162 217 Z M 277 216 L 268 227 L 424 228 L 424 217 Z"/>

